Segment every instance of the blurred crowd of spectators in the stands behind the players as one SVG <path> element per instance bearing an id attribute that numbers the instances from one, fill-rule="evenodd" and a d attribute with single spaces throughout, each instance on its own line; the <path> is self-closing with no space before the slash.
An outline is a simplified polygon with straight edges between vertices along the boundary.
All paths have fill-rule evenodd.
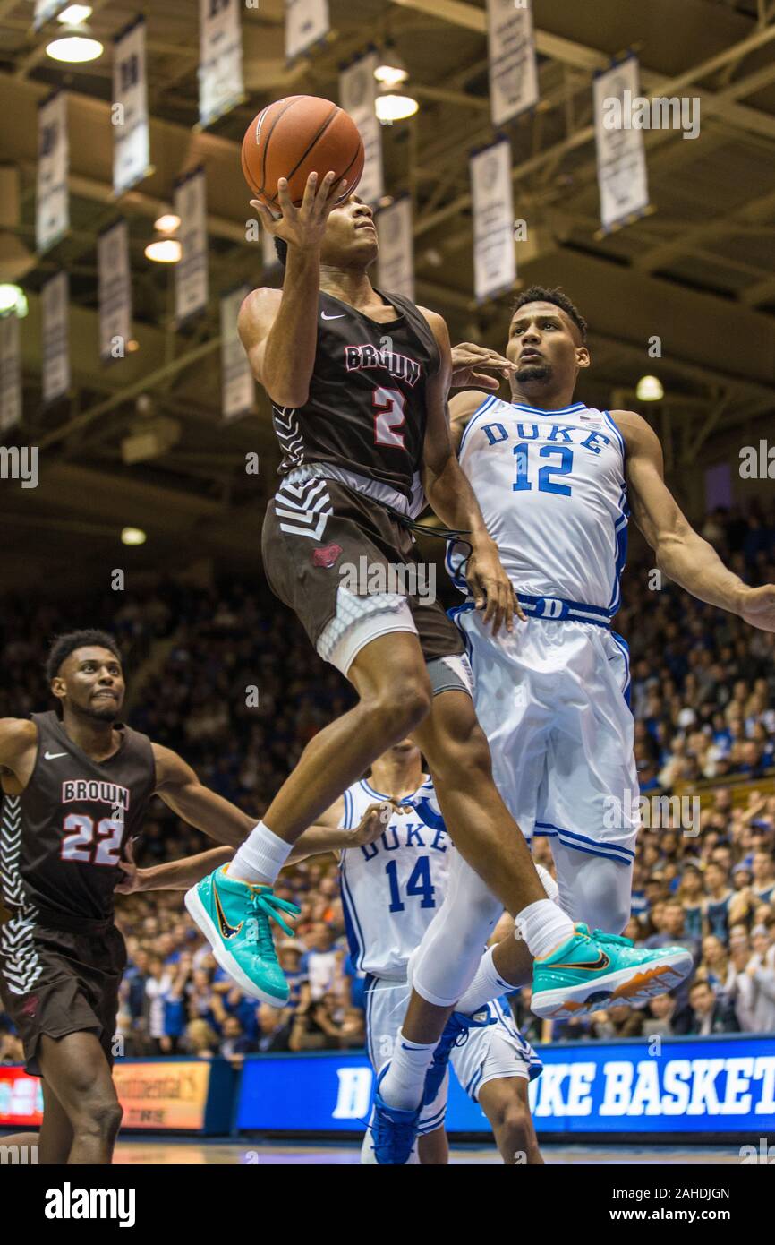
<path id="1" fill-rule="evenodd" d="M 715 512 L 703 534 L 748 583 L 775 581 L 774 513 Z M 775 1032 L 775 635 L 661 581 L 648 559 L 628 570 L 623 598 L 616 627 L 631 647 L 636 761 L 649 801 L 624 933 L 649 946 L 690 946 L 694 971 L 674 996 L 647 1008 L 611 1007 L 551 1030 L 530 1012 L 529 990 L 513 996 L 513 1007 L 537 1040 Z M 52 634 L 104 626 L 127 652 L 129 674 L 138 666 L 142 674 L 151 660 L 129 701 L 129 723 L 260 817 L 305 745 L 352 703 L 348 684 L 315 656 L 296 620 L 261 585 L 165 581 L 116 604 L 77 614 L 72 603 L 66 610 L 25 603 L 4 610 L 0 716 L 47 707 L 41 662 Z M 159 640 L 167 640 L 160 662 Z M 687 822 L 678 803 L 651 815 L 659 797 L 682 793 L 702 798 L 699 817 L 693 812 Z M 155 801 L 138 863 L 209 845 Z M 536 855 L 551 869 L 546 839 L 537 840 Z M 276 889 L 301 908 L 297 936 L 279 942 L 292 987 L 281 1011 L 258 1006 L 224 975 L 180 894 L 119 898 L 126 1055 L 239 1061 L 256 1051 L 363 1045 L 363 980 L 346 946 L 336 862 L 307 859 Z M 15 1041 L 0 1016 L 0 1062 L 17 1056 Z"/>

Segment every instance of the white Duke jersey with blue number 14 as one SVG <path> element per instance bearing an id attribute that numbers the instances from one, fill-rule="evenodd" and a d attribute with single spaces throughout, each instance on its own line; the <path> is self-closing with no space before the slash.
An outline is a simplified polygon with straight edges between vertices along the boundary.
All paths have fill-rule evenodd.
<path id="1" fill-rule="evenodd" d="M 366 781 L 345 792 L 341 825 L 352 830 L 369 804 L 389 797 Z M 374 977 L 404 980 L 407 961 L 440 908 L 455 850 L 442 820 L 433 783 L 424 778 L 413 808 L 394 813 L 368 847 L 340 855 L 340 883 L 350 954 Z"/>

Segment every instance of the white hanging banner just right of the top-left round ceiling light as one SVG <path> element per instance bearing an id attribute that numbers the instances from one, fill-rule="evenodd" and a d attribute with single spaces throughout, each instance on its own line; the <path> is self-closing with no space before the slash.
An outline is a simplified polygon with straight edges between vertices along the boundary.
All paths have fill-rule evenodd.
<path id="1" fill-rule="evenodd" d="M 113 194 L 151 172 L 146 22 L 138 17 L 113 40 Z"/>

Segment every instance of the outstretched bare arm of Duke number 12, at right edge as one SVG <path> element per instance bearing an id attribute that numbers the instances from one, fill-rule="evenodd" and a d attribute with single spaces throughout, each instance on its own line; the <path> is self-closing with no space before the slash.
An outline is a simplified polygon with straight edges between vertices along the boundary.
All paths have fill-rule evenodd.
<path id="1" fill-rule="evenodd" d="M 775 631 L 775 584 L 749 588 L 726 569 L 666 486 L 662 446 L 646 420 L 634 411 L 616 411 L 613 416 L 627 447 L 632 514 L 657 555 L 659 570 L 700 601 L 738 614 L 763 631 Z"/>

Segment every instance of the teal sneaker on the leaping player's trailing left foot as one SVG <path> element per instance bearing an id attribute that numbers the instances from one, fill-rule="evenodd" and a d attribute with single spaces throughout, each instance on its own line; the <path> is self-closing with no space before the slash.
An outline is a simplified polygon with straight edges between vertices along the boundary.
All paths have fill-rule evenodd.
<path id="1" fill-rule="evenodd" d="M 277 899 L 271 886 L 229 878 L 224 865 L 185 893 L 185 906 L 216 962 L 246 995 L 274 1007 L 287 1002 L 290 990 L 277 962 L 270 920 L 292 936 L 279 910 L 296 916 L 296 904 Z"/>

